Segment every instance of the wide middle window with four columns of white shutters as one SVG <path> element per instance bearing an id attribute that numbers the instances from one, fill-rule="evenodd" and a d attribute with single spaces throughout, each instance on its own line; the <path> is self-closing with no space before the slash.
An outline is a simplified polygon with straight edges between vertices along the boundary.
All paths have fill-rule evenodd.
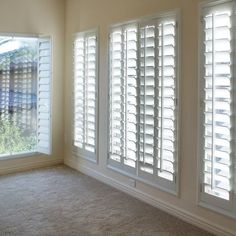
<path id="1" fill-rule="evenodd" d="M 177 190 L 177 19 L 136 21 L 110 33 L 108 165 Z"/>

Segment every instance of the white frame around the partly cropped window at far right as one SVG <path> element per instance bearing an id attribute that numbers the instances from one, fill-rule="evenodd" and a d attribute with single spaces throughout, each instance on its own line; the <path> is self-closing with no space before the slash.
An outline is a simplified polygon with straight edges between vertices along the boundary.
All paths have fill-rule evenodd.
<path id="1" fill-rule="evenodd" d="M 198 152 L 197 152 L 197 205 L 201 206 L 203 208 L 210 209 L 212 211 L 218 212 L 220 214 L 226 215 L 228 217 L 236 219 L 236 190 L 234 187 L 232 187 L 232 191 L 230 193 L 229 200 L 225 200 L 223 198 L 216 197 L 214 195 L 210 195 L 208 193 L 205 193 L 204 188 L 204 158 L 203 158 L 203 146 L 204 146 L 204 140 L 203 140 L 203 133 L 204 133 L 204 26 L 203 26 L 203 17 L 207 13 L 212 12 L 212 10 L 216 9 L 222 9 L 222 7 L 230 8 L 232 7 L 232 12 L 234 12 L 234 19 L 236 19 L 236 3 L 233 0 L 216 0 L 216 1 L 205 1 L 199 4 L 199 16 L 198 16 Z M 236 32 L 235 28 L 236 23 L 232 25 L 232 34 L 233 34 L 233 43 L 232 43 L 232 54 L 231 59 L 232 63 L 235 64 L 236 56 Z M 232 57 L 232 55 L 234 56 Z M 235 66 L 233 67 L 232 71 L 232 80 L 234 80 L 236 76 L 236 69 Z M 235 88 L 236 83 L 232 85 L 233 88 Z M 231 93 L 232 94 L 232 100 L 236 97 L 236 92 Z M 235 107 L 235 105 L 234 105 Z M 231 105 L 231 111 L 232 111 L 232 105 Z M 235 113 L 236 110 L 233 108 L 233 113 Z M 232 123 L 232 128 L 236 128 L 236 122 L 235 120 Z M 231 139 L 231 147 L 235 149 L 234 144 L 232 144 Z M 233 151 L 235 152 L 235 151 Z M 232 154 L 231 154 L 232 155 Z M 231 171 L 233 173 L 232 179 L 236 178 L 236 171 L 234 171 L 234 168 L 236 168 L 236 158 L 232 161 L 231 165 Z M 235 184 L 232 183 L 234 186 Z"/>

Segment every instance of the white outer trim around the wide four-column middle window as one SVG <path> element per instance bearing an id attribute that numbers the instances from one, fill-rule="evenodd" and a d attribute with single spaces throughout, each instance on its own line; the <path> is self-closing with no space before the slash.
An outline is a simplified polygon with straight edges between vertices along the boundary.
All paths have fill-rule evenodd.
<path id="1" fill-rule="evenodd" d="M 173 181 L 172 183 L 168 180 L 159 178 L 159 180 L 157 180 L 157 178 L 149 178 L 149 179 L 145 179 L 142 178 L 140 176 L 140 174 L 138 173 L 138 167 L 136 168 L 137 170 L 133 170 L 132 168 L 129 168 L 128 166 L 125 168 L 120 168 L 119 163 L 109 159 L 109 128 L 110 128 L 110 120 L 109 120 L 109 115 L 107 115 L 107 168 L 115 171 L 121 175 L 127 176 L 127 177 L 131 177 L 136 181 L 139 181 L 141 183 L 145 183 L 149 186 L 152 186 L 154 188 L 160 189 L 162 191 L 165 191 L 167 193 L 170 193 L 174 196 L 180 197 L 180 192 L 179 192 L 179 188 L 180 188 L 180 176 L 181 176 L 181 169 L 180 169 L 180 144 L 181 144 L 181 138 L 180 138 L 180 127 L 181 127 L 181 97 L 180 97 L 180 75 L 181 75 L 181 68 L 180 68 L 180 60 L 181 60 L 181 17 L 180 17 L 180 9 L 176 9 L 173 11 L 167 11 L 167 12 L 158 12 L 154 15 L 150 15 L 150 16 L 144 16 L 144 17 L 140 17 L 134 20 L 130 20 L 130 21 L 125 21 L 125 22 L 119 22 L 116 24 L 112 24 L 109 27 L 108 30 L 108 58 L 110 58 L 109 53 L 110 53 L 110 43 L 109 43 L 109 37 L 110 37 L 110 33 L 112 32 L 113 29 L 115 29 L 116 27 L 120 27 L 120 26 L 126 26 L 129 24 L 140 24 L 140 23 L 144 23 L 145 21 L 151 21 L 151 20 L 161 20 L 161 19 L 165 19 L 168 20 L 168 18 L 170 19 L 175 19 L 177 22 L 177 37 L 176 37 L 176 98 L 177 98 L 177 106 L 176 106 L 176 118 L 177 118 L 177 122 L 176 122 L 176 175 L 175 175 L 175 181 Z M 108 60 L 108 104 L 107 104 L 107 114 L 109 114 L 110 111 L 110 97 L 109 97 L 109 90 L 110 90 L 110 60 Z M 125 170 L 129 170 L 129 172 L 125 171 Z"/>

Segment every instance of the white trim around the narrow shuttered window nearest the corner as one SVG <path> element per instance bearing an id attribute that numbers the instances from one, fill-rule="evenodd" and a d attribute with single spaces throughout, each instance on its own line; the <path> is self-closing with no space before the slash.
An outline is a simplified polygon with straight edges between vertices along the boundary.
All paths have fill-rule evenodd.
<path id="1" fill-rule="evenodd" d="M 81 158 L 87 161 L 90 161 L 92 163 L 98 164 L 98 153 L 99 153 L 99 145 L 98 145 L 98 137 L 99 137 L 99 28 L 93 28 L 85 31 L 80 31 L 77 33 L 73 34 L 72 37 L 72 53 L 74 55 L 74 41 L 78 36 L 83 36 L 83 35 L 89 35 L 89 34 L 95 34 L 96 36 L 96 113 L 95 113 L 95 153 L 91 153 L 86 150 L 82 150 L 74 145 L 74 61 L 72 63 L 72 87 L 71 90 L 73 91 L 72 95 L 72 111 L 73 111 L 73 119 L 72 119 L 72 125 L 71 125 L 71 130 L 72 130 L 72 154 L 76 158 Z"/>

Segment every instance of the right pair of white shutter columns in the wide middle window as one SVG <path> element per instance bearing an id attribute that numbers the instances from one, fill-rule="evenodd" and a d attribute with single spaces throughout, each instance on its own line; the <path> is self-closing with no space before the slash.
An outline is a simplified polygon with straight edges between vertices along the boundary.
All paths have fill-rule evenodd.
<path id="1" fill-rule="evenodd" d="M 176 181 L 177 171 L 176 37 L 173 20 L 145 22 L 140 28 L 140 174 L 172 189 L 175 183 L 168 181 Z"/>

